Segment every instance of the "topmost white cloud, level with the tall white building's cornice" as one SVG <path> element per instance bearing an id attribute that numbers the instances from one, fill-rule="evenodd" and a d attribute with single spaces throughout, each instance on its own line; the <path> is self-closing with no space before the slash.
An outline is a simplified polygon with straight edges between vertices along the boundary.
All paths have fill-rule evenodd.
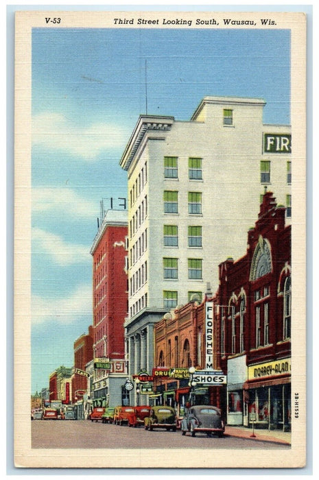
<path id="1" fill-rule="evenodd" d="M 125 145 L 128 132 L 113 123 L 93 123 L 86 128 L 59 113 L 44 112 L 32 119 L 32 143 L 47 149 L 64 150 L 73 156 L 93 160 L 105 149 Z"/>

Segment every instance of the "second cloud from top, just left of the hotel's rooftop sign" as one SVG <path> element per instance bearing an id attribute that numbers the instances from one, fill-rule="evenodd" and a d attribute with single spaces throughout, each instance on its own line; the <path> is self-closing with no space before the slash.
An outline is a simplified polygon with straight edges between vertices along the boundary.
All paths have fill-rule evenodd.
<path id="1" fill-rule="evenodd" d="M 32 189 L 32 211 L 60 212 L 63 215 L 76 215 L 78 218 L 95 218 L 97 204 L 80 197 L 68 188 L 34 188 Z"/>

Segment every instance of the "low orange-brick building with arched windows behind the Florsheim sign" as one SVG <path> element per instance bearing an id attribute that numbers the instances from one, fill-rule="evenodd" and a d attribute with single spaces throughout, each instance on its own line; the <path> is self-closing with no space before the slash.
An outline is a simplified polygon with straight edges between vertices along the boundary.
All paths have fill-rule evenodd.
<path id="1" fill-rule="evenodd" d="M 199 302 L 193 300 L 174 313 L 167 313 L 154 326 L 154 398 L 156 403 L 180 409 L 190 400 L 191 394 L 191 401 L 197 405 L 224 409 L 226 386 L 201 385 L 194 381 L 195 376 L 189 371 L 191 367 L 200 371 L 205 368 L 206 301 Z M 211 370 L 220 370 L 215 354 Z"/>

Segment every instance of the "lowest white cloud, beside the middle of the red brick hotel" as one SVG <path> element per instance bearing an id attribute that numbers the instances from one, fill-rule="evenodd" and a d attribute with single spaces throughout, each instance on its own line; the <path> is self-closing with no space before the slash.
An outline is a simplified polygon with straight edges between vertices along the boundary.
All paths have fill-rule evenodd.
<path id="1" fill-rule="evenodd" d="M 32 324 L 58 322 L 70 324 L 80 316 L 92 315 L 92 286 L 80 285 L 64 298 L 32 297 Z"/>

